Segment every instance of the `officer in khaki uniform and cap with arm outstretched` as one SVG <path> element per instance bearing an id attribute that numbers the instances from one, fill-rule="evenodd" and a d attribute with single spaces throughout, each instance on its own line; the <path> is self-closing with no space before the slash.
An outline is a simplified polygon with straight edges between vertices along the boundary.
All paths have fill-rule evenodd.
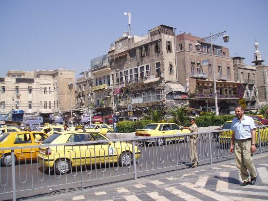
<path id="1" fill-rule="evenodd" d="M 196 133 L 198 132 L 198 127 L 195 124 L 195 117 L 190 117 L 190 123 L 191 126 L 187 127 L 187 126 L 181 126 L 180 129 L 189 129 L 191 131 L 191 133 Z M 198 166 L 198 155 L 197 155 L 197 148 L 196 148 L 196 143 L 197 143 L 197 135 L 196 134 L 192 134 L 190 135 L 190 157 L 191 157 L 191 167 L 197 167 Z"/>

